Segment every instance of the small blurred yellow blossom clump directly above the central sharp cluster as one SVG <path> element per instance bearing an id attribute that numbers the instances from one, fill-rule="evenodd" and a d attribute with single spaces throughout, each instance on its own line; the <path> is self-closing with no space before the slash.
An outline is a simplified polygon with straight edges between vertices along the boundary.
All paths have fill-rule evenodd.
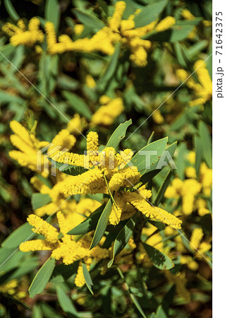
<path id="1" fill-rule="evenodd" d="M 104 98 L 104 95 L 99 100 L 101 107 L 92 115 L 92 124 L 95 126 L 103 124 L 109 126 L 113 124 L 114 119 L 117 118 L 124 110 L 122 98 Z"/>

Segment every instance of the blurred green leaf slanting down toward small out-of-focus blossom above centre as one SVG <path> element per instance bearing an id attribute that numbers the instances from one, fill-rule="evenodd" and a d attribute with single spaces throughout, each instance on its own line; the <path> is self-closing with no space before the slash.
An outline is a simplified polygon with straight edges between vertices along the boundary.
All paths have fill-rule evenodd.
<path id="1" fill-rule="evenodd" d="M 73 110 L 87 119 L 92 118 L 92 113 L 90 112 L 89 107 L 82 98 L 80 98 L 78 95 L 75 95 L 74 93 L 67 92 L 66 90 L 63 90 L 62 94 L 71 104 Z"/>

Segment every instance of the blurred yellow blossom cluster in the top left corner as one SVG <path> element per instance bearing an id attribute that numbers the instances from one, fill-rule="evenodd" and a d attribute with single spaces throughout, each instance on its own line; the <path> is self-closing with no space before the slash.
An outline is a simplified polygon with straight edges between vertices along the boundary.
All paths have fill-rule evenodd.
<path id="1" fill-rule="evenodd" d="M 44 41 L 44 33 L 39 29 L 39 18 L 31 18 L 28 23 L 28 30 L 23 20 L 18 20 L 17 26 L 12 23 L 6 23 L 2 30 L 10 36 L 10 42 L 13 46 L 28 45 L 29 47 Z"/>

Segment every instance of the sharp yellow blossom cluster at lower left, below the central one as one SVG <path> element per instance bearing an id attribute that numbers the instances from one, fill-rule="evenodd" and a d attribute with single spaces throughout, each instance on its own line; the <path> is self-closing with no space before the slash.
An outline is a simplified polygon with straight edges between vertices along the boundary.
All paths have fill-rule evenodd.
<path id="1" fill-rule="evenodd" d="M 92 260 L 99 261 L 109 257 L 109 251 L 102 247 L 94 247 L 89 250 L 92 237 L 85 235 L 80 240 L 75 241 L 74 235 L 66 234 L 74 223 L 71 223 L 71 218 L 66 218 L 63 213 L 59 211 L 57 213 L 57 220 L 59 224 L 59 230 L 62 237 L 59 238 L 59 232 L 53 225 L 47 223 L 47 221 L 31 214 L 28 216 L 28 223 L 34 227 L 33 231 L 44 235 L 44 240 L 30 240 L 20 244 L 20 251 L 51 251 L 51 257 L 56 260 L 62 259 L 63 263 L 68 265 L 74 261 L 84 261 L 87 267 L 90 266 Z M 83 271 L 80 266 L 78 273 L 75 276 L 75 284 L 79 287 L 84 285 L 85 280 L 83 278 Z"/>

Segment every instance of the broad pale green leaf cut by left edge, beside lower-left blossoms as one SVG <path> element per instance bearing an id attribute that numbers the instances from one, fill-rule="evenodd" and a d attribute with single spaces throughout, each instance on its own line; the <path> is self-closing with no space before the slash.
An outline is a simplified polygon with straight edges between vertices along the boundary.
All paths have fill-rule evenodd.
<path id="1" fill-rule="evenodd" d="M 6 238 L 6 240 L 4 240 L 4 242 L 1 244 L 1 247 L 4 247 L 6 249 L 13 249 L 18 247 L 20 243 L 28 240 L 28 237 L 30 235 L 34 235 L 34 232 L 31 229 L 32 225 L 30 225 L 28 222 L 21 225 L 19 228 L 13 231 L 11 235 Z"/>

